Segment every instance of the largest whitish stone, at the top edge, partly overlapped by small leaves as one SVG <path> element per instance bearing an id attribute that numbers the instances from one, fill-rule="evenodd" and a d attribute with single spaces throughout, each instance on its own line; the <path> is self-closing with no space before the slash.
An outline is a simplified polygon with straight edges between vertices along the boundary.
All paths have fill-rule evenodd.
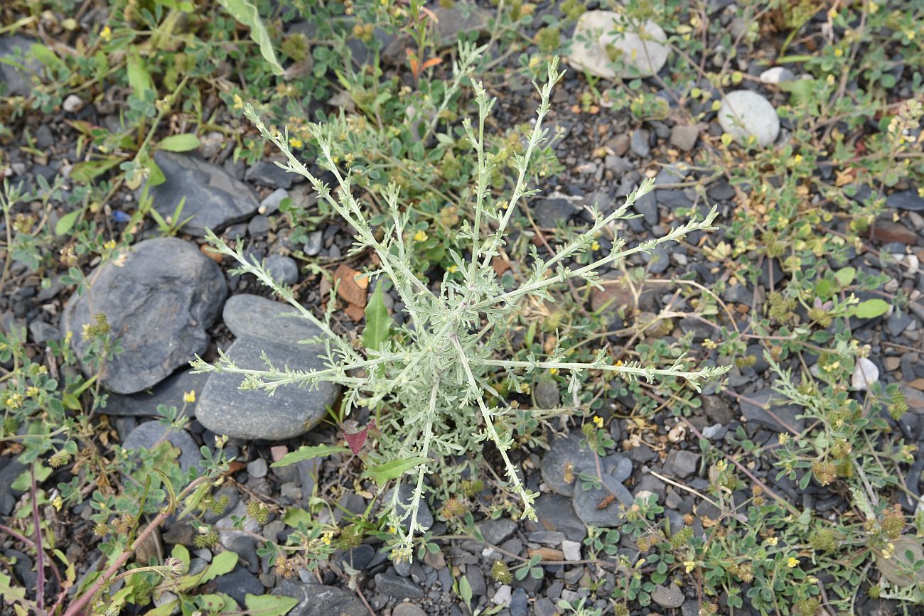
<path id="1" fill-rule="evenodd" d="M 614 11 L 587 11 L 581 15 L 571 39 L 571 55 L 568 57 L 571 66 L 605 79 L 656 75 L 671 51 L 661 26 L 648 21 L 639 36 L 639 33 L 627 30 L 616 32 L 617 25 L 619 14 Z M 618 73 L 608 48 L 622 54 L 619 59 L 625 67 Z"/>

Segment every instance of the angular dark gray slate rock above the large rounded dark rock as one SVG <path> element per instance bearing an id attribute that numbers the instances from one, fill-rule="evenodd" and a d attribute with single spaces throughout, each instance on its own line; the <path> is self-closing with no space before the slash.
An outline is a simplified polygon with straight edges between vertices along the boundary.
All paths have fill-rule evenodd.
<path id="1" fill-rule="evenodd" d="M 202 160 L 198 154 L 157 151 L 154 162 L 164 172 L 164 183 L 148 187 L 154 210 L 164 218 L 173 216 L 176 204 L 186 198 L 183 232 L 204 236 L 206 229 L 220 233 L 257 211 L 260 203 L 253 190 L 225 169 Z"/>

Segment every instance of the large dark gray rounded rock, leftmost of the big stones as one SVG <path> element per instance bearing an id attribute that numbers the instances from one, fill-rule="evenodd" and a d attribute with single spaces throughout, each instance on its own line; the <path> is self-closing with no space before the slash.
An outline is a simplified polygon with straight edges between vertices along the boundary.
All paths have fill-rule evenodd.
<path id="1" fill-rule="evenodd" d="M 82 358 L 88 346 L 80 335 L 83 325 L 95 314 L 106 315 L 112 336 L 125 349 L 103 370 L 103 385 L 116 393 L 147 389 L 205 351 L 205 331 L 227 296 L 218 265 L 175 237 L 144 240 L 124 260 L 104 263 L 89 279 L 90 291 L 67 301 L 62 329 L 75 333 L 74 347 Z"/>

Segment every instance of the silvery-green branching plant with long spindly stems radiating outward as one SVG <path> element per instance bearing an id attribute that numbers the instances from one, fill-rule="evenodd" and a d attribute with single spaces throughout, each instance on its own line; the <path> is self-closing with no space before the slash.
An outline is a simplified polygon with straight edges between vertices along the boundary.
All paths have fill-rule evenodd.
<path id="1" fill-rule="evenodd" d="M 456 91 L 461 78 L 472 72 L 479 53 L 480 50 L 473 46 L 460 46 L 459 60 L 454 66 L 456 79 L 448 89 L 447 97 Z M 228 248 L 221 239 L 211 235 L 210 240 L 222 254 L 237 260 L 237 272 L 256 276 L 291 304 L 298 314 L 320 328 L 324 334 L 322 344 L 326 348 L 326 367 L 297 370 L 274 367 L 267 362 L 265 370 L 244 369 L 224 355 L 214 366 L 201 360 L 194 365 L 202 371 L 241 374 L 242 387 L 259 388 L 271 395 L 277 387 L 310 387 L 322 380 L 331 381 L 345 390 L 342 409 L 345 414 L 357 407 L 368 407 L 375 414 L 378 430 L 374 447 L 366 453 L 366 465 L 374 471 L 374 477 L 384 478 L 389 483 L 399 483 L 409 476 L 413 487 L 409 502 L 399 502 L 399 490 L 392 489 L 391 502 L 383 507 L 383 515 L 399 534 L 395 545 L 395 556 L 399 558 L 411 557 L 413 538 L 423 530 L 418 522 L 419 501 L 424 498 L 425 489 L 432 489 L 425 483 L 425 477 L 428 474 L 438 475 L 432 483 L 443 486 L 446 494 L 447 483 L 451 486 L 461 479 L 460 467 L 482 459 L 486 441 L 496 447 L 503 459 L 508 488 L 522 501 L 522 515 L 534 518 L 532 503 L 537 495 L 525 489 L 517 467 L 508 456 L 513 444 L 511 434 L 503 428 L 498 429 L 498 424 L 505 424 L 500 419 L 512 412 L 510 405 L 505 403 L 505 396 L 491 385 L 500 374 L 504 374 L 515 390 L 520 391 L 524 375 L 534 370 L 554 368 L 562 374 L 569 374 L 569 391 L 576 393 L 581 373 L 590 370 L 625 380 L 651 381 L 677 377 L 688 380 L 699 390 L 700 382 L 722 374 L 726 369 L 688 371 L 679 360 L 671 368 L 653 368 L 632 362 L 614 363 L 605 350 L 601 350 L 593 361 L 585 363 L 565 361 L 562 349 L 555 349 L 544 357 L 530 355 L 522 361 L 508 360 L 496 353 L 498 343 L 508 333 L 509 317 L 530 298 L 553 302 L 553 290 L 568 280 L 599 285 L 599 272 L 604 269 L 618 265 L 629 255 L 650 251 L 665 242 L 679 241 L 691 231 L 709 229 L 715 217 L 713 209 L 705 220 L 691 220 L 663 237 L 634 248 L 626 248 L 625 242 L 617 237 L 612 250 L 605 256 L 587 265 L 569 266 L 575 258 L 590 251 L 594 238 L 602 230 L 613 229 L 615 221 L 626 218 L 626 212 L 636 200 L 650 191 L 652 182 L 646 181 L 612 213 L 603 215 L 594 208 L 590 228 L 557 247 L 553 255 L 540 255 L 533 248 L 528 276 L 517 288 L 505 290 L 491 262 L 505 246 L 508 226 L 515 212 L 537 192 L 527 187 L 529 162 L 534 151 L 541 148 L 546 139 L 547 131 L 542 127 L 542 121 L 549 112 L 553 86 L 564 75 L 557 66 L 555 58 L 548 66 L 544 82 L 534 84 L 541 103 L 535 127 L 522 153 L 515 157 L 513 167 L 517 174 L 512 181 L 512 189 L 507 193 L 495 192 L 491 186 L 495 169 L 492 156 L 485 151 L 484 145 L 485 119 L 491 112 L 494 99 L 489 99 L 480 83 L 473 81 L 478 121 L 463 122 L 476 165 L 470 203 L 471 220 L 462 223 L 457 235 L 458 246 L 464 247 L 465 252 L 451 252 L 460 280 L 447 273 L 438 287 L 416 275 L 409 267 L 414 242 L 410 237 L 412 234 L 407 232 L 409 212 L 401 203 L 399 188 L 389 185 L 383 189 L 382 197 L 389 220 L 378 229 L 368 222 L 368 209 L 354 197 L 351 189 L 353 177 L 338 163 L 339 157 L 334 154 L 334 144 L 340 147 L 343 135 L 350 130 L 346 119 L 341 117 L 311 127 L 319 151 L 317 164 L 334 177 L 336 188 L 332 190 L 292 154 L 286 133 L 266 127 L 252 107 L 248 106 L 245 112 L 263 137 L 285 154 L 286 162 L 277 164 L 290 173 L 307 178 L 319 199 L 356 230 L 350 254 L 371 251 L 377 255 L 375 269 L 363 275 L 378 279 L 378 284 L 382 284 L 381 279 L 391 283 L 405 306 L 407 321 L 406 325 L 395 328 L 393 335 L 383 337 L 376 348 L 358 350 L 332 331 L 330 314 L 324 318 L 315 316 L 298 303 L 290 289 L 274 282 L 260 262 L 248 260 L 239 247 Z M 432 291 L 432 287 L 438 288 L 438 291 Z M 465 462 L 466 459 L 468 462 Z M 475 467 L 471 465 L 471 468 Z"/>

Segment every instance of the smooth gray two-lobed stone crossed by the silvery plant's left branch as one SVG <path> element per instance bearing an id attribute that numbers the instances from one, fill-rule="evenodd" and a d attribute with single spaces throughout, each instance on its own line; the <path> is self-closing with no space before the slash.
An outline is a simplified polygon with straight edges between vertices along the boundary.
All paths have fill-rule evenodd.
<path id="1" fill-rule="evenodd" d="M 323 369 L 321 344 L 298 344 L 322 335 L 308 320 L 291 315 L 294 308 L 260 296 L 233 296 L 225 304 L 225 325 L 237 336 L 226 353 L 241 368 L 266 367 L 265 353 L 274 367 Z M 334 404 L 337 387 L 322 382 L 317 388 L 278 388 L 273 397 L 259 390 L 239 389 L 241 378 L 213 373 L 205 383 L 196 417 L 216 434 L 238 439 L 282 441 L 313 428 Z"/>

